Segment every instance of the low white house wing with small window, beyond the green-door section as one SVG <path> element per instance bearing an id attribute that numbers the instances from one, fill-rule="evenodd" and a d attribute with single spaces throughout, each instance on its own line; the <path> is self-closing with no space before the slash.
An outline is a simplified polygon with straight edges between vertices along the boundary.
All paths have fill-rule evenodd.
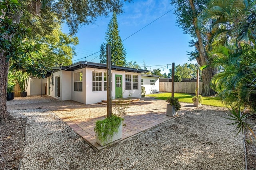
<path id="1" fill-rule="evenodd" d="M 150 93 L 158 93 L 159 91 L 159 75 L 141 75 L 141 85 L 145 87 L 146 95 Z"/>

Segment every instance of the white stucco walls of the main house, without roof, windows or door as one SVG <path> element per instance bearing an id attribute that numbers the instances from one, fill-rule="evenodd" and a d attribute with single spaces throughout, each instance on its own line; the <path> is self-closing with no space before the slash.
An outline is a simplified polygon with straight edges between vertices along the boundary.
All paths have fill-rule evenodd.
<path id="1" fill-rule="evenodd" d="M 82 71 L 83 73 L 83 89 L 82 91 L 74 91 L 74 73 Z M 92 72 L 102 72 L 102 91 L 92 91 Z M 50 77 L 50 84 L 48 83 L 49 77 L 47 77 L 47 95 L 60 99 L 60 100 L 74 100 L 84 104 L 98 103 L 102 100 L 107 99 L 107 91 L 104 91 L 104 73 L 106 69 L 94 69 L 94 68 L 83 68 L 75 71 L 57 71 Z M 125 75 L 138 75 L 138 90 L 125 90 Z M 141 73 L 132 73 L 126 71 L 112 70 L 112 99 L 116 98 L 115 93 L 115 75 L 122 75 L 122 91 L 123 97 L 141 97 Z M 56 96 L 56 77 L 60 76 L 60 97 Z M 53 82 L 52 82 L 53 81 Z M 53 84 L 52 84 L 53 83 Z M 159 89 L 159 88 L 158 88 Z"/>

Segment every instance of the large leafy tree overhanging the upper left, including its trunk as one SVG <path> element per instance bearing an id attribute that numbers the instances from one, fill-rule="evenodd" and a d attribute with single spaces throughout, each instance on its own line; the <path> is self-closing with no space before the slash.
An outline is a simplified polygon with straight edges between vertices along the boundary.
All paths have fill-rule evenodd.
<path id="1" fill-rule="evenodd" d="M 70 28 L 70 33 L 75 34 L 82 25 L 93 23 L 98 16 L 108 16 L 110 12 L 122 12 L 122 0 L 22 0 L 20 4 L 18 0 L 1 0 L 0 1 L 0 122 L 7 118 L 6 109 L 6 89 L 7 75 L 9 69 L 9 61 L 12 62 L 13 68 L 26 69 L 32 74 L 46 71 L 47 68 L 39 61 L 45 61 L 47 58 L 41 54 L 34 56 L 34 51 L 39 53 L 40 45 L 37 42 L 44 42 L 42 49 L 49 49 L 53 45 L 55 51 L 52 57 L 63 58 L 63 53 L 70 53 L 72 50 L 64 50 L 61 43 L 75 45 L 76 38 L 68 37 L 56 30 L 60 40 L 49 43 L 43 41 L 44 38 L 50 36 L 54 29 L 60 24 L 66 23 Z M 31 29 L 30 29 L 31 28 Z M 29 36 L 27 33 L 32 32 Z M 34 41 L 31 39 L 34 37 Z M 56 38 L 56 37 L 55 37 Z M 58 49 L 58 50 L 56 50 Z M 47 50 L 44 51 L 45 54 Z M 38 60 L 33 61 L 33 58 Z M 24 66 L 23 64 L 26 63 Z M 45 63 L 47 64 L 47 63 Z M 26 68 L 26 66 L 30 67 Z M 34 68 L 34 69 L 33 69 Z"/>

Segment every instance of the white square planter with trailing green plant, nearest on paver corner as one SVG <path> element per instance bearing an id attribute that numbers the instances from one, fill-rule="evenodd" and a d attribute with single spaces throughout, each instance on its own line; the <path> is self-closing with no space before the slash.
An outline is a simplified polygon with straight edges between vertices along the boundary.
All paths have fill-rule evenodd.
<path id="1" fill-rule="evenodd" d="M 122 138 L 122 117 L 112 115 L 103 120 L 96 121 L 94 131 L 96 133 L 96 142 L 104 146 L 115 140 Z"/>

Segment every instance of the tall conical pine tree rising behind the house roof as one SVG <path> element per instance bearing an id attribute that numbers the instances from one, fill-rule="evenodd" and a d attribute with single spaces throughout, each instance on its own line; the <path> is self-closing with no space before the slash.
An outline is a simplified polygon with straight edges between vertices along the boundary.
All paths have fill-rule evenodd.
<path id="1" fill-rule="evenodd" d="M 116 12 L 113 13 L 112 19 L 108 24 L 105 40 L 107 43 L 103 43 L 104 45 L 102 44 L 100 46 L 100 63 L 106 63 L 106 44 L 110 44 L 112 65 L 125 66 L 126 51 L 122 39 L 119 36 Z"/>

